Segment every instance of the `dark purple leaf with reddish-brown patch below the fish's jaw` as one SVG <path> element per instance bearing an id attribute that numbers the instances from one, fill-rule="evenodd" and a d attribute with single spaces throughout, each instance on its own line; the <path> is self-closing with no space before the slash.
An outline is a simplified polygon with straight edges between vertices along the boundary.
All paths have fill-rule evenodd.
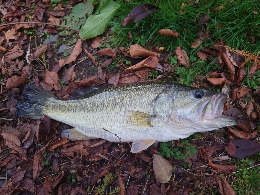
<path id="1" fill-rule="evenodd" d="M 231 140 L 226 151 L 233 157 L 244 159 L 260 151 L 260 144 L 250 140 Z"/>

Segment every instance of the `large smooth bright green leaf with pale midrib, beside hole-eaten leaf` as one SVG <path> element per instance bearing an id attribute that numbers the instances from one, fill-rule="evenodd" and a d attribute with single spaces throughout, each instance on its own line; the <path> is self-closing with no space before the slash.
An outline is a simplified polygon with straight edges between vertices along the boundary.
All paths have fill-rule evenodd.
<path id="1" fill-rule="evenodd" d="M 107 0 L 98 15 L 88 17 L 85 25 L 80 29 L 80 37 L 88 39 L 104 33 L 118 8 L 118 2 Z"/>

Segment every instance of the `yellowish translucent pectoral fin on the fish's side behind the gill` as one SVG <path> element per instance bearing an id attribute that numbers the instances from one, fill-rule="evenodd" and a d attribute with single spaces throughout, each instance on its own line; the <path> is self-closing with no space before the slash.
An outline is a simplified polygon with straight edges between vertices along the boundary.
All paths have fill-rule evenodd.
<path id="1" fill-rule="evenodd" d="M 144 113 L 144 112 L 138 112 L 135 110 L 129 110 L 129 116 L 128 121 L 131 121 L 132 123 L 140 126 L 152 126 L 151 121 L 156 118 L 156 116 Z"/>

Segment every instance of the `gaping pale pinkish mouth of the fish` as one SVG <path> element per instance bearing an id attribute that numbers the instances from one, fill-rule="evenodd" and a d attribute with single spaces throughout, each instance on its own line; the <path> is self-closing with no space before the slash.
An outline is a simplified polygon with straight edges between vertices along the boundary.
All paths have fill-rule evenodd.
<path id="1" fill-rule="evenodd" d="M 222 93 L 213 95 L 209 100 L 204 102 L 200 108 L 201 117 L 204 120 L 230 122 L 232 125 L 236 125 L 237 119 L 222 114 L 227 97 L 226 94 Z"/>

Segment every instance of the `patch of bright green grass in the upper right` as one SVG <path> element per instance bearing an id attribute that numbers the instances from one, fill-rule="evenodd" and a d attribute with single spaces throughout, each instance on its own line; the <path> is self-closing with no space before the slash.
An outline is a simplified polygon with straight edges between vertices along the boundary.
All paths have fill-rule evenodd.
<path id="1" fill-rule="evenodd" d="M 120 0 L 121 1 L 121 0 Z M 158 1 L 156 6 L 159 8 L 150 16 L 143 20 L 133 23 L 132 21 L 126 26 L 121 25 L 131 10 L 139 4 L 155 4 L 156 1 L 121 1 L 121 8 L 115 16 L 111 26 L 111 34 L 106 38 L 111 47 L 128 48 L 131 44 L 145 46 L 147 42 L 150 46 L 165 47 L 161 53 L 172 54 L 175 49 L 181 46 L 190 57 L 190 69 L 179 67 L 170 75 L 164 75 L 164 78 L 175 80 L 180 83 L 191 85 L 196 81 L 202 81 L 202 77 L 207 76 L 210 70 L 217 69 L 213 64 L 216 57 L 201 61 L 198 58 L 197 51 L 205 46 L 213 46 L 213 42 L 220 39 L 224 40 L 227 46 L 236 49 L 248 50 L 251 53 L 260 51 L 260 4 L 258 1 L 199 1 L 198 4 L 187 4 L 181 8 L 186 1 Z M 221 9 L 220 9 L 221 8 Z M 219 9 L 219 10 L 218 10 Z M 180 14 L 179 11 L 183 14 Z M 258 12 L 254 14 L 254 12 Z M 199 19 L 209 14 L 210 20 L 207 22 L 209 38 L 203 40 L 201 48 L 193 49 L 191 45 L 195 38 L 198 38 L 199 29 L 206 31 L 206 25 L 198 25 Z M 222 24 L 222 28 L 218 28 Z M 179 37 L 169 37 L 160 35 L 160 29 L 169 28 L 175 30 Z M 127 33 L 132 34 L 129 41 Z M 149 47 L 148 47 L 149 48 Z M 174 57 L 170 55 L 170 58 Z M 168 58 L 167 58 L 168 59 Z M 127 59 L 126 59 L 127 60 Z M 169 60 L 171 62 L 171 60 Z M 173 64 L 174 65 L 174 64 Z M 109 67 L 108 67 L 109 68 Z M 112 67 L 114 68 L 114 67 Z M 248 82 L 245 82 L 245 84 Z M 259 82 L 258 82 L 259 83 Z M 250 84 L 248 84 L 250 86 Z M 259 84 L 258 84 L 259 85 Z"/>

